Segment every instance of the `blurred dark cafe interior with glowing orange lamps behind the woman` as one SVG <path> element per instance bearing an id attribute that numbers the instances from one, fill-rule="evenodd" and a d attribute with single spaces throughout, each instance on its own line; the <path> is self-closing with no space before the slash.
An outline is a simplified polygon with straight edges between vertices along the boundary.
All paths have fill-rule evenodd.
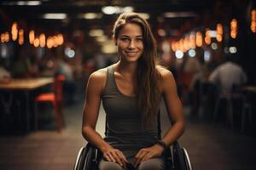
<path id="1" fill-rule="evenodd" d="M 73 169 L 87 143 L 86 84 L 119 60 L 113 24 L 124 12 L 148 20 L 157 63 L 172 71 L 193 169 L 256 169 L 253 0 L 2 0 L 0 169 Z M 164 134 L 164 104 L 160 113 Z"/>

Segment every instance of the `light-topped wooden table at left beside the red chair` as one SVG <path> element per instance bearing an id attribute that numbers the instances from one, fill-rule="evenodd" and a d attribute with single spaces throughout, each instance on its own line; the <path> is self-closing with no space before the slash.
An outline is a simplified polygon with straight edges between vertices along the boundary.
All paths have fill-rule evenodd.
<path id="1" fill-rule="evenodd" d="M 24 95 L 26 105 L 26 111 L 24 113 L 26 114 L 25 120 L 26 120 L 26 131 L 29 132 L 31 130 L 30 126 L 30 119 L 33 111 L 30 111 L 30 106 L 33 105 L 31 103 L 31 92 L 42 88 L 45 85 L 49 85 L 54 82 L 53 77 L 39 77 L 39 78 L 30 78 L 30 79 L 11 79 L 9 82 L 1 82 L 0 83 L 0 102 L 3 105 L 3 108 L 0 108 L 0 111 L 4 111 L 6 115 L 10 115 L 11 113 L 11 106 L 14 105 L 15 100 L 15 92 L 19 91 Z M 4 94 L 8 94 L 8 99 L 4 99 L 7 96 Z M 21 99 L 20 99 L 21 100 Z M 2 112 L 1 111 L 1 112 Z M 22 112 L 22 111 L 20 111 Z M 35 122 L 37 122 L 36 119 L 38 119 L 37 115 L 33 115 Z M 35 125 L 36 126 L 36 125 Z"/>

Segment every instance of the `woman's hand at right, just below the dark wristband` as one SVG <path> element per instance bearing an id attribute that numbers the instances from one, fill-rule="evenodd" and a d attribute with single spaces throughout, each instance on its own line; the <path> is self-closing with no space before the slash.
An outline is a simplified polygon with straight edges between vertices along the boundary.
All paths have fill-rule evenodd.
<path id="1" fill-rule="evenodd" d="M 143 161 L 147 161 L 154 157 L 160 157 L 163 151 L 164 148 L 159 144 L 154 144 L 149 148 L 143 148 L 137 152 L 137 155 L 134 157 L 132 165 L 133 167 L 137 167 Z"/>

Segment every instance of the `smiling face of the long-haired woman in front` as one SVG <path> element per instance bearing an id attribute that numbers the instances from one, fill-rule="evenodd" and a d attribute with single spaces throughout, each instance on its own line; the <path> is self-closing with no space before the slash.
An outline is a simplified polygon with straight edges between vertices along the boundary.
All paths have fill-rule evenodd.
<path id="1" fill-rule="evenodd" d="M 115 41 L 121 60 L 134 62 L 143 54 L 143 31 L 137 24 L 126 24 Z"/>

